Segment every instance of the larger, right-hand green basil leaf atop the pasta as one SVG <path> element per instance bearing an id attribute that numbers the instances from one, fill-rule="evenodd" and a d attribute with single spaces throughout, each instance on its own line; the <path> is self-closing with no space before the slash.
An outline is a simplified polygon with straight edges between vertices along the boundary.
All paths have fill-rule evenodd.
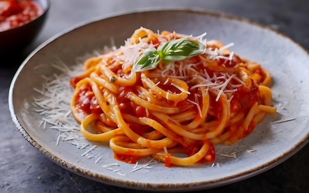
<path id="1" fill-rule="evenodd" d="M 166 64 L 203 54 L 205 50 L 204 44 L 186 38 L 170 40 L 157 48 L 161 60 Z"/>

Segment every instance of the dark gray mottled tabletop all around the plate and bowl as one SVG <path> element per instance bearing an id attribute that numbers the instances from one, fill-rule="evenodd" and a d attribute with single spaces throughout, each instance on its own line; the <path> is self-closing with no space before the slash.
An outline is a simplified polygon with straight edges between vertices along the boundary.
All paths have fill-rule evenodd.
<path id="1" fill-rule="evenodd" d="M 133 193 L 78 176 L 50 161 L 18 132 L 8 110 L 8 88 L 17 68 L 40 43 L 96 16 L 149 7 L 198 7 L 246 17 L 278 30 L 309 49 L 308 0 L 51 0 L 39 37 L 13 61 L 0 62 L 1 193 Z M 309 145 L 255 177 L 212 193 L 304 193 L 309 190 Z M 208 192 L 205 191 L 205 192 Z M 204 191 L 200 191 L 204 192 Z"/>

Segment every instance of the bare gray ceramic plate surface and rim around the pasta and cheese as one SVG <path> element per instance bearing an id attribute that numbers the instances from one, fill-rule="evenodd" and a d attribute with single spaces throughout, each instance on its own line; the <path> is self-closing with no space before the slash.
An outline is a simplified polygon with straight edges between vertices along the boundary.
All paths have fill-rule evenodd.
<path id="1" fill-rule="evenodd" d="M 238 55 L 257 61 L 270 70 L 271 89 L 276 115 L 267 116 L 263 123 L 245 139 L 232 146 L 217 146 L 217 158 L 212 164 L 189 167 L 152 168 L 119 175 L 116 171 L 132 170 L 134 165 L 118 162 L 107 144 L 88 142 L 86 149 L 77 149 L 72 140 L 57 145 L 59 131 L 42 129 L 42 116 L 34 112 L 31 104 L 38 96 L 33 88 L 40 88 L 43 78 L 61 71 L 52 67 L 57 61 L 76 65 L 77 57 L 110 45 L 123 44 L 139 27 L 154 31 L 169 30 L 198 36 L 207 32 L 207 39 L 218 39 Z M 13 121 L 21 134 L 42 154 L 64 168 L 98 182 L 138 190 L 189 191 L 209 189 L 237 182 L 286 160 L 308 143 L 309 139 L 309 54 L 293 40 L 269 28 L 234 16 L 193 10 L 161 10 L 101 17 L 78 25 L 47 40 L 21 65 L 9 90 L 9 108 Z M 70 96 L 68 96 L 70 97 Z M 287 120 L 273 122 L 276 120 Z M 77 132 L 77 135 L 80 135 Z M 85 150 L 92 157 L 81 156 Z M 248 151 L 249 150 L 249 151 Z M 250 151 L 254 150 L 254 151 Z M 98 155 L 103 155 L 98 160 Z M 230 155 L 224 156 L 221 154 Z M 235 155 L 235 156 L 234 156 Z M 102 166 L 117 163 L 108 169 Z M 114 171 L 111 171 L 114 170 Z"/>

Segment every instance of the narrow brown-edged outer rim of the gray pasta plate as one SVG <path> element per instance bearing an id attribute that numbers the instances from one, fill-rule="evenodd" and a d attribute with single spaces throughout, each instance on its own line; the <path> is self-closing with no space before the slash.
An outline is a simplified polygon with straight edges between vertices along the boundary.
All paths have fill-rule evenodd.
<path id="1" fill-rule="evenodd" d="M 299 46 L 302 50 L 304 50 L 307 55 L 309 56 L 309 50 L 305 48 L 302 44 L 299 42 L 295 41 L 294 39 L 290 38 L 289 36 L 285 35 L 282 32 L 279 32 L 277 30 L 274 30 L 264 24 L 261 24 L 259 22 L 247 19 L 245 17 L 240 17 L 237 15 L 232 15 L 228 13 L 224 13 L 221 11 L 213 11 L 209 9 L 204 9 L 204 8 L 173 8 L 173 7 L 165 7 L 165 8 L 142 8 L 142 9 L 135 9 L 131 11 L 120 11 L 120 12 L 115 12 L 111 14 L 104 14 L 100 15 L 85 21 L 82 21 L 80 23 L 77 23 L 73 25 L 70 28 L 67 28 L 63 30 L 60 33 L 57 33 L 56 35 L 52 36 L 51 38 L 45 40 L 43 43 L 41 43 L 36 49 L 34 49 L 28 56 L 27 58 L 22 62 L 20 67 L 17 69 L 14 77 L 11 80 L 11 84 L 9 86 L 9 92 L 8 92 L 8 106 L 9 106 L 9 111 L 10 115 L 12 118 L 12 121 L 14 122 L 15 126 L 21 133 L 21 135 L 33 146 L 35 147 L 41 154 L 52 160 L 53 162 L 57 163 L 61 167 L 76 173 L 77 175 L 83 176 L 85 178 L 104 183 L 107 185 L 112 185 L 112 186 L 118 186 L 121 188 L 127 188 L 127 189 L 133 189 L 133 190 L 151 190 L 155 192 L 163 192 L 163 191 L 172 191 L 172 192 L 183 192 L 183 191 L 197 191 L 197 190 L 205 190 L 209 188 L 216 188 L 228 184 L 232 184 L 244 179 L 247 179 L 249 177 L 256 176 L 262 172 L 265 172 L 276 165 L 282 163 L 283 161 L 287 160 L 290 158 L 292 155 L 296 154 L 299 152 L 303 147 L 305 147 L 309 143 L 309 133 L 305 135 L 297 144 L 295 144 L 293 147 L 291 147 L 289 150 L 286 150 L 284 154 L 280 154 L 280 156 L 277 156 L 276 158 L 263 163 L 259 167 L 251 168 L 250 170 L 242 171 L 240 173 L 237 173 L 237 175 L 232 175 L 229 177 L 223 177 L 220 179 L 215 179 L 215 180 L 207 180 L 207 181 L 199 181 L 199 182 L 189 182 L 189 183 L 179 183 L 179 184 L 173 184 L 171 186 L 170 183 L 160 183 L 160 184 L 154 184 L 154 183 L 141 183 L 141 182 L 134 182 L 134 181 L 126 181 L 118 178 L 114 178 L 111 176 L 103 175 L 103 174 L 98 174 L 95 172 L 92 172 L 90 170 L 81 168 L 77 165 L 74 165 L 72 163 L 69 163 L 62 158 L 48 152 L 45 150 L 35 139 L 32 138 L 31 135 L 29 135 L 26 131 L 25 128 L 21 125 L 19 122 L 15 111 L 14 111 L 14 104 L 13 104 L 13 91 L 14 91 L 14 85 L 16 83 L 17 78 L 19 77 L 19 74 L 23 70 L 24 66 L 28 63 L 28 61 L 41 50 L 43 47 L 54 41 L 55 39 L 58 39 L 65 34 L 70 33 L 71 31 L 81 28 L 83 26 L 86 26 L 88 24 L 98 22 L 101 20 L 106 20 L 106 19 L 111 19 L 114 17 L 119 17 L 119 16 L 124 16 L 124 15 L 130 15 L 130 14 L 135 14 L 135 13 L 148 13 L 148 12 L 158 12 L 158 11 L 176 11 L 176 12 L 192 12 L 195 14 L 204 14 L 204 15 L 210 15 L 213 17 L 217 18 L 225 18 L 228 20 L 232 21 L 239 21 L 239 22 L 245 22 L 250 25 L 257 26 L 259 28 L 263 28 L 266 30 L 269 30 L 273 33 L 276 33 L 277 35 L 281 36 L 282 38 L 289 39 L 293 43 L 295 43 L 297 46 Z M 173 190 L 171 190 L 173 188 Z"/>

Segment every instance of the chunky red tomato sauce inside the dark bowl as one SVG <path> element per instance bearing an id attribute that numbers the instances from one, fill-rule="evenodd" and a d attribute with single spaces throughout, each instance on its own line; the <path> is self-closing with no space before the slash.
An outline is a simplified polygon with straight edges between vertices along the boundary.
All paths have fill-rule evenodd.
<path id="1" fill-rule="evenodd" d="M 42 13 L 42 7 L 34 0 L 0 0 L 0 32 L 21 26 Z"/>

